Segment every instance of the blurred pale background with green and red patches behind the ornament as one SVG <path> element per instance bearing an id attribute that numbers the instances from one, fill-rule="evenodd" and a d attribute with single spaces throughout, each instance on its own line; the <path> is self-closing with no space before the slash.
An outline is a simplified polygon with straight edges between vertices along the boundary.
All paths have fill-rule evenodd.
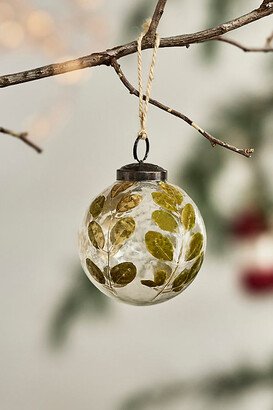
<path id="1" fill-rule="evenodd" d="M 156 1 L 0 1 L 1 75 L 136 38 Z M 161 36 L 216 25 L 254 0 L 169 0 Z M 263 46 L 272 17 L 231 37 Z M 150 53 L 144 53 L 145 67 Z M 149 108 L 150 162 L 194 199 L 208 252 L 194 283 L 119 304 L 81 270 L 77 229 L 132 160 L 138 101 L 98 67 L 0 92 L 1 410 L 273 409 L 273 56 L 215 42 L 159 51 L 154 98 L 248 160 Z M 136 85 L 136 55 L 120 60 Z"/>

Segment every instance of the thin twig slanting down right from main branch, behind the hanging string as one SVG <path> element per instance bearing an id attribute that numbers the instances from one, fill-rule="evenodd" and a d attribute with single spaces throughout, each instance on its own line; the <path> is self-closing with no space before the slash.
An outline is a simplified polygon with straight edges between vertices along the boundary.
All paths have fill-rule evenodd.
<path id="1" fill-rule="evenodd" d="M 115 58 L 112 59 L 111 65 L 114 68 L 114 70 L 116 71 L 117 75 L 119 76 L 121 82 L 129 90 L 130 94 L 133 94 L 136 97 L 139 97 L 138 90 L 136 88 L 134 88 L 133 85 L 127 80 L 127 78 L 125 77 L 123 71 L 121 70 L 121 67 L 120 67 L 119 63 L 117 62 L 117 60 Z M 143 98 L 145 100 L 146 96 L 143 96 Z M 166 111 L 169 114 L 172 114 L 175 117 L 178 117 L 178 118 L 182 119 L 183 121 L 185 121 L 191 127 L 195 128 L 201 135 L 203 135 L 203 137 L 205 137 L 207 140 L 209 140 L 209 142 L 211 143 L 211 145 L 213 147 L 215 147 L 216 145 L 220 145 L 221 147 L 224 147 L 226 149 L 234 151 L 237 154 L 243 155 L 247 158 L 250 158 L 251 154 L 254 152 L 253 148 L 248 148 L 248 149 L 237 148 L 233 145 L 228 144 L 227 142 L 221 141 L 221 140 L 213 137 L 211 134 L 209 134 L 208 132 L 204 131 L 201 127 L 199 127 L 199 125 L 197 125 L 195 122 L 193 122 L 189 117 L 187 117 L 186 115 L 182 114 L 179 111 L 173 110 L 172 108 L 168 107 L 167 105 L 162 104 L 159 101 L 156 101 L 156 100 L 151 98 L 149 100 L 149 103 L 154 105 L 155 107 L 157 107 L 157 108 L 159 108 L 163 111 Z"/>

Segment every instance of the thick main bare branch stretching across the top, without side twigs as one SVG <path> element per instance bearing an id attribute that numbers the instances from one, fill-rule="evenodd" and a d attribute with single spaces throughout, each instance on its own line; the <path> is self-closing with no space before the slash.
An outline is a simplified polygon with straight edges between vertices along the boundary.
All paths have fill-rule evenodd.
<path id="1" fill-rule="evenodd" d="M 193 34 L 183 34 L 174 37 L 162 38 L 160 41 L 160 47 L 184 47 L 189 46 L 189 44 L 212 40 L 215 37 L 222 36 L 225 33 L 236 30 L 271 14 L 273 14 L 273 1 L 266 3 L 263 2 L 263 4 L 258 9 L 219 26 L 199 31 Z M 157 20 L 155 20 L 154 26 L 156 26 Z M 143 39 L 142 48 L 153 48 L 153 43 L 154 42 L 151 37 L 145 37 Z M 137 43 L 136 41 L 133 41 L 131 43 L 117 46 L 103 52 L 92 53 L 75 60 L 69 60 L 59 64 L 50 64 L 15 74 L 3 75 L 0 77 L 0 87 L 9 87 L 11 85 L 21 84 L 28 81 L 40 80 L 42 78 L 60 75 L 74 70 L 81 70 L 87 67 L 110 65 L 111 59 L 113 57 L 118 60 L 119 58 L 133 54 L 136 51 Z"/>

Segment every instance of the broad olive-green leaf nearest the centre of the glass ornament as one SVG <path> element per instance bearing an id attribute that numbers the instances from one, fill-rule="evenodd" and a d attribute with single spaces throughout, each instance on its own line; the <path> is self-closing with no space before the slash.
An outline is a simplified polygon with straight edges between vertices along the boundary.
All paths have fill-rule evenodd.
<path id="1" fill-rule="evenodd" d="M 173 260 L 173 244 L 169 238 L 159 232 L 149 231 L 145 234 L 145 243 L 148 251 L 157 259 Z"/>

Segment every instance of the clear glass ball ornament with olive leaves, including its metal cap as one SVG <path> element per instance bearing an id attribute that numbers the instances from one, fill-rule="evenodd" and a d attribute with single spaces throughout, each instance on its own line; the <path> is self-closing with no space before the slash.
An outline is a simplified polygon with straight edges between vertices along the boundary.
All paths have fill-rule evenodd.
<path id="1" fill-rule="evenodd" d="M 202 216 L 167 171 L 144 162 L 117 171 L 117 181 L 87 209 L 79 231 L 82 267 L 107 296 L 132 305 L 165 302 L 195 279 L 206 250 Z"/>

